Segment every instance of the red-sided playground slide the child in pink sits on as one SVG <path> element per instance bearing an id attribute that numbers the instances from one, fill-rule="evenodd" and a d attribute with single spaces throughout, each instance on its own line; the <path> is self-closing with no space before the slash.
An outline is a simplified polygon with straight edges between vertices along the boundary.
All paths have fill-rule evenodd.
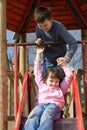
<path id="1" fill-rule="evenodd" d="M 22 108 L 23 108 L 24 94 L 25 94 L 26 82 L 27 82 L 25 80 L 25 78 L 27 76 L 28 75 L 25 74 L 24 83 L 22 86 L 23 91 L 22 91 L 22 96 L 21 96 L 20 102 L 19 102 L 18 113 L 17 113 L 14 130 L 22 130 L 22 127 L 26 120 L 21 117 L 21 113 L 22 113 Z M 54 130 L 85 130 L 84 123 L 83 123 L 83 117 L 82 117 L 82 111 L 81 111 L 78 83 L 77 83 L 75 71 L 73 71 L 72 87 L 73 87 L 73 100 L 74 100 L 74 104 L 75 104 L 75 115 L 76 116 L 74 118 L 64 118 L 64 119 L 56 120 L 54 122 Z"/>

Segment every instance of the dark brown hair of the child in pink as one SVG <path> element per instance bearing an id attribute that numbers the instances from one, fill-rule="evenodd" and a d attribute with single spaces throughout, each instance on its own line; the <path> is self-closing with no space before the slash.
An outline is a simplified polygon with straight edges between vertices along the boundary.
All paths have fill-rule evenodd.
<path id="1" fill-rule="evenodd" d="M 46 71 L 46 74 L 44 76 L 44 81 L 47 80 L 48 76 L 50 75 L 51 78 L 58 78 L 60 80 L 60 83 L 65 77 L 65 73 L 61 67 L 51 67 L 48 68 Z"/>

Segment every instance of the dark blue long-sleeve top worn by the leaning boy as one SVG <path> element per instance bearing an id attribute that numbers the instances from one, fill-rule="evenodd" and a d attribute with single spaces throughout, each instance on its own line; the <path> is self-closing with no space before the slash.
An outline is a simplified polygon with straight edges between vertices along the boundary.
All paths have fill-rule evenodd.
<path id="1" fill-rule="evenodd" d="M 36 26 L 36 36 L 44 42 L 58 42 L 58 45 L 48 45 L 45 47 L 44 56 L 49 61 L 54 61 L 59 57 L 65 57 L 67 62 L 70 62 L 78 44 L 76 39 L 66 30 L 63 24 L 53 20 L 52 27 L 48 32 Z M 68 49 L 66 47 L 68 45 Z"/>

